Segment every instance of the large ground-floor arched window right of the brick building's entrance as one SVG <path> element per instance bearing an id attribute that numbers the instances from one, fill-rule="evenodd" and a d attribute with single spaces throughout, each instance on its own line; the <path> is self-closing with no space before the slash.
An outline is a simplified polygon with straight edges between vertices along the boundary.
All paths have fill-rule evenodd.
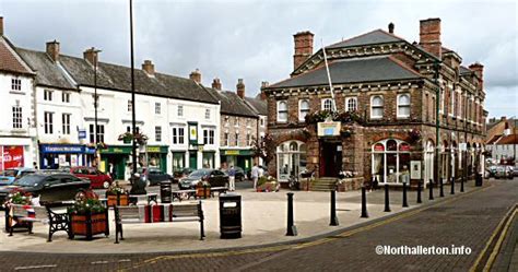
<path id="1" fill-rule="evenodd" d="M 387 139 L 373 144 L 373 176 L 379 182 L 410 182 L 410 144 Z"/>

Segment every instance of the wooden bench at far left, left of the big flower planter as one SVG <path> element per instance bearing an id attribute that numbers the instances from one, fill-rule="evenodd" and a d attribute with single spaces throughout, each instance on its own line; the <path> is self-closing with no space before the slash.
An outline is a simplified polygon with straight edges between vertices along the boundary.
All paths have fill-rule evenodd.
<path id="1" fill-rule="evenodd" d="M 52 235 L 59 230 L 67 232 L 69 238 L 73 238 L 70 228 L 70 216 L 67 212 L 54 212 L 49 205 L 32 206 L 20 204 L 10 204 L 9 210 L 5 212 L 5 225 L 10 227 L 9 236 L 13 236 L 14 224 L 17 223 L 26 223 L 28 234 L 33 234 L 33 223 L 37 222 L 48 224 L 47 241 L 52 241 Z"/>

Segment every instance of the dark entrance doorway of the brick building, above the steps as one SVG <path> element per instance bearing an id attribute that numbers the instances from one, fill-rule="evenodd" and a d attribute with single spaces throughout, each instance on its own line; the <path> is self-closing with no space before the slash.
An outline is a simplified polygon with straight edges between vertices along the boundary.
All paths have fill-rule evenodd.
<path id="1" fill-rule="evenodd" d="M 320 176 L 338 177 L 342 170 L 342 144 L 322 142 L 320 152 Z"/>

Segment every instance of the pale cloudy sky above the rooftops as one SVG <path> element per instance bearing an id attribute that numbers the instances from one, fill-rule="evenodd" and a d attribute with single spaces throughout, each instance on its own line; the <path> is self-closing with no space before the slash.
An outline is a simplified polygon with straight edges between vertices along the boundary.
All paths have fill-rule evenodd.
<path id="1" fill-rule="evenodd" d="M 19 47 L 45 50 L 58 40 L 66 55 L 90 47 L 99 59 L 130 66 L 129 0 L 0 0 L 5 35 Z M 216 1 L 133 0 L 134 60 L 151 59 L 155 70 L 202 83 L 214 78 L 246 95 L 262 81 L 274 83 L 293 70 L 293 34 L 315 34 L 314 51 L 376 28 L 419 42 L 419 21 L 442 19 L 443 46 L 462 63 L 484 64 L 490 117 L 518 117 L 518 4 L 516 1 Z"/>

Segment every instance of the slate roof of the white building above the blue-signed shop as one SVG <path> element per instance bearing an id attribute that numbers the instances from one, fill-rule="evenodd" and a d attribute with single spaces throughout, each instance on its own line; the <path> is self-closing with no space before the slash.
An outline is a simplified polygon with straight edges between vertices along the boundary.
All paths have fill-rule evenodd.
<path id="1" fill-rule="evenodd" d="M 36 73 L 36 84 L 66 90 L 76 87 L 68 80 L 56 62 L 46 52 L 16 48 L 16 52 Z"/>

